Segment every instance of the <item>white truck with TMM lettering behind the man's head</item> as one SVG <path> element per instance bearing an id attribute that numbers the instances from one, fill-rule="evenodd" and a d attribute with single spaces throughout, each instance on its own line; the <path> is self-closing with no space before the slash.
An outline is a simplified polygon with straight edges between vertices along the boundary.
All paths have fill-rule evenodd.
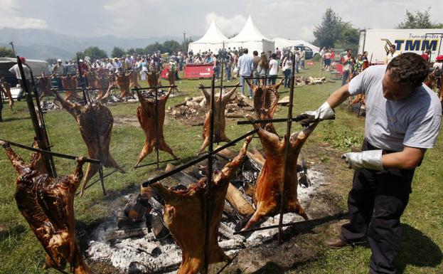
<path id="1" fill-rule="evenodd" d="M 416 29 L 365 29 L 360 31 L 358 53 L 368 51 L 371 63 L 383 63 L 391 45 L 402 53 L 414 52 L 422 55 L 431 51 L 431 62 L 443 54 L 442 28 Z"/>

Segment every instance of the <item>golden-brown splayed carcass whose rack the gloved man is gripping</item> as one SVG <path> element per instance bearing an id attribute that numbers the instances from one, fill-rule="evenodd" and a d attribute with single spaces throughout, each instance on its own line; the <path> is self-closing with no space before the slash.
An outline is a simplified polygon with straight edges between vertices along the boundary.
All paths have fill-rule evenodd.
<path id="1" fill-rule="evenodd" d="M 286 138 L 280 141 L 277 135 L 263 130 L 260 125 L 254 125 L 254 127 L 259 128 L 257 134 L 265 150 L 266 160 L 257 179 L 257 184 L 255 185 L 254 204 L 256 210 L 243 229 L 250 228 L 260 221 L 260 218 L 263 216 L 274 216 L 278 214 L 282 192 L 284 193 L 283 212 L 295 212 L 306 220 L 308 219 L 308 216 L 304 213 L 304 209 L 297 199 L 297 158 L 299 157 L 301 147 L 309 135 L 311 135 L 316 125 L 317 123 L 314 123 L 309 127 L 305 127 L 300 132 L 295 132 L 291 135 L 288 155 L 289 166 L 287 167 L 284 189 L 282 188 Z"/>

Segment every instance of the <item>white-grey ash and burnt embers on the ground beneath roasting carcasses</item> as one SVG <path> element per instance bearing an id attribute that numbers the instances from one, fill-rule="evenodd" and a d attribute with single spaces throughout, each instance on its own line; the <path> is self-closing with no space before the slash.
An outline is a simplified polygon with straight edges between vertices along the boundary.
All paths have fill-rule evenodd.
<path id="1" fill-rule="evenodd" d="M 309 170 L 311 184 L 298 187 L 298 199 L 302 206 L 309 203 L 319 187 L 324 184 L 324 176 L 314 169 Z M 124 197 L 129 201 L 132 194 Z M 309 212 L 307 212 L 309 214 Z M 181 250 L 171 236 L 164 239 L 154 238 L 153 233 L 142 222 L 138 226 L 122 229 L 117 227 L 115 216 L 98 226 L 92 233 L 86 251 L 90 260 L 107 261 L 115 268 L 128 273 L 175 273 L 181 264 Z M 264 218 L 260 227 L 278 225 L 279 214 Z M 301 216 L 287 213 L 283 223 L 304 221 Z M 222 218 L 219 229 L 219 244 L 225 253 L 233 256 L 244 248 L 260 246 L 271 241 L 278 233 L 278 228 L 255 231 L 244 235 L 234 235 L 236 223 L 230 218 Z M 283 231 L 289 227 L 282 228 Z"/>

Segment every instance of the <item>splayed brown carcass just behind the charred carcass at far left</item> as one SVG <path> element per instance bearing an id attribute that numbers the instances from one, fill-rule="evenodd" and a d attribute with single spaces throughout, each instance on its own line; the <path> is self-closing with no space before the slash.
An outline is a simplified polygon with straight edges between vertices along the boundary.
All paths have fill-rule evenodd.
<path id="1" fill-rule="evenodd" d="M 93 105 L 82 106 L 76 102 L 68 102 L 63 100 L 58 93 L 55 96 L 60 101 L 62 107 L 68 110 L 70 115 L 73 115 L 80 127 L 80 134 L 87 146 L 87 154 L 92 159 L 100 160 L 105 167 L 114 167 L 119 172 L 124 173 L 124 170 L 119 167 L 110 154 L 110 142 L 112 124 L 114 117 L 110 110 L 104 105 L 97 102 Z M 98 171 L 97 164 L 89 164 L 87 166 L 85 179 L 82 184 L 82 194 L 85 191 L 87 181 L 94 176 Z"/>

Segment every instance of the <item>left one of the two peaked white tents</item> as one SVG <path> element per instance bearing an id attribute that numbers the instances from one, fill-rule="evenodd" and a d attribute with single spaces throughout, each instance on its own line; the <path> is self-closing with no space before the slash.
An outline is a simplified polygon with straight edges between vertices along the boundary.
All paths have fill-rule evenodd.
<path id="1" fill-rule="evenodd" d="M 220 28 L 218 28 L 218 26 L 215 24 L 215 21 L 212 21 L 205 35 L 198 41 L 189 44 L 188 51 L 192 50 L 193 53 L 204 52 L 208 50 L 212 52 L 217 52 L 218 49 L 223 48 L 223 42 L 226 41 L 228 41 L 228 37 L 226 37 L 220 31 Z"/>

